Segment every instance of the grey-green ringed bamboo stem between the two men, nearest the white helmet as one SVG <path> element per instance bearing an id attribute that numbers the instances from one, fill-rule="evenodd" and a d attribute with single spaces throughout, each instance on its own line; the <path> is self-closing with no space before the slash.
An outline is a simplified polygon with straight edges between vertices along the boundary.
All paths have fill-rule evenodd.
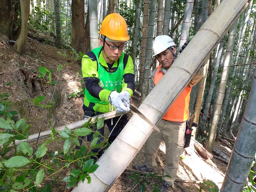
<path id="1" fill-rule="evenodd" d="M 146 44 L 145 64 L 144 64 L 144 71 L 143 71 L 140 103 L 142 103 L 146 98 L 146 96 L 148 95 L 149 73 L 150 73 L 150 65 L 152 63 L 152 44 L 153 44 L 153 38 L 154 38 L 155 16 L 156 16 L 156 0 L 151 0 L 149 16 L 148 16 L 147 44 Z"/>

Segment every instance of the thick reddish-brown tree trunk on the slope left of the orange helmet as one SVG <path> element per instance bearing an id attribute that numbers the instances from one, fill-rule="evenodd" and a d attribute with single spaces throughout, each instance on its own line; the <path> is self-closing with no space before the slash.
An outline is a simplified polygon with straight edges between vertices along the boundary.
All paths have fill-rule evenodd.
<path id="1" fill-rule="evenodd" d="M 90 45 L 89 9 L 87 11 L 86 23 L 84 24 L 84 1 L 71 1 L 71 47 L 77 52 L 86 53 Z"/>

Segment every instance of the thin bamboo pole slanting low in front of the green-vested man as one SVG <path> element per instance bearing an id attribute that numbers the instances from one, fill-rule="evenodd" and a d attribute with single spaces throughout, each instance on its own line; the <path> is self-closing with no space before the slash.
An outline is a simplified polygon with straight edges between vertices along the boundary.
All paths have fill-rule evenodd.
<path id="1" fill-rule="evenodd" d="M 130 112 L 130 111 L 129 111 Z M 126 113 L 129 113 L 129 112 L 126 112 Z M 102 118 L 102 117 L 105 117 L 105 119 L 111 119 L 113 117 L 118 117 L 120 116 L 121 112 L 117 112 L 117 111 L 112 111 L 112 112 L 108 112 L 108 113 L 103 113 L 102 115 L 99 115 L 98 116 L 98 119 Z M 96 119 L 97 116 L 94 116 L 92 117 L 92 121 Z M 67 124 L 67 125 L 64 125 L 64 126 L 61 126 L 61 127 L 57 127 L 55 128 L 56 130 L 56 133 L 57 133 L 57 130 L 59 131 L 65 131 L 65 126 L 67 126 L 67 128 L 73 130 L 73 129 L 76 129 L 76 128 L 79 128 L 79 127 L 82 127 L 82 125 L 84 123 L 86 123 L 88 119 L 83 119 L 81 121 L 77 121 L 75 123 L 70 123 L 70 124 Z M 40 133 L 40 136 L 39 136 L 39 139 L 44 139 L 46 137 L 50 137 L 51 136 L 51 130 L 48 130 L 48 131 L 43 131 Z M 18 145 L 21 141 L 25 141 L 25 142 L 32 142 L 32 141 L 36 141 L 38 138 L 38 133 L 37 134 L 34 134 L 34 135 L 30 135 L 28 137 L 28 139 L 24 139 L 24 140 L 15 140 L 15 144 Z M 13 146 L 13 144 L 9 145 L 9 146 Z"/>

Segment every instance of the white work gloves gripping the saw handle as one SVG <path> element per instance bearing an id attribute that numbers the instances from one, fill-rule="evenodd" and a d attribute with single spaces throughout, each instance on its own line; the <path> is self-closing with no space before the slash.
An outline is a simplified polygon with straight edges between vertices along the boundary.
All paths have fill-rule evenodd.
<path id="1" fill-rule="evenodd" d="M 130 96 L 130 93 L 128 91 L 123 91 L 121 93 L 112 91 L 108 99 L 117 111 L 126 112 L 126 111 L 130 111 L 129 96 Z"/>

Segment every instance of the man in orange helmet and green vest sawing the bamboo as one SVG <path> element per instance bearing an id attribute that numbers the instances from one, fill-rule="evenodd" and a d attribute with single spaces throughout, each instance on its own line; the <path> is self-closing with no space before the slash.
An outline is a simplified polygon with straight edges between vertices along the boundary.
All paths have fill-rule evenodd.
<path id="1" fill-rule="evenodd" d="M 135 89 L 133 61 L 129 55 L 123 52 L 126 41 L 129 40 L 127 24 L 124 18 L 112 13 L 103 20 L 100 29 L 101 47 L 86 53 L 82 59 L 82 73 L 85 83 L 84 118 L 89 118 L 113 110 L 119 112 L 129 111 L 129 103 L 124 105 L 122 100 L 129 102 Z M 89 57 L 89 58 L 88 58 Z M 104 124 L 110 132 L 117 123 L 119 117 L 108 119 Z M 128 122 L 128 115 L 123 115 L 111 133 L 108 142 L 113 142 L 123 127 Z M 104 126 L 97 130 L 100 132 L 97 144 L 103 141 Z M 87 136 L 87 140 L 93 139 L 93 133 Z M 82 137 L 80 137 L 80 145 Z M 77 149 L 80 146 L 76 147 Z M 102 150 L 92 149 L 100 158 Z M 96 158 L 94 158 L 96 159 Z"/>

